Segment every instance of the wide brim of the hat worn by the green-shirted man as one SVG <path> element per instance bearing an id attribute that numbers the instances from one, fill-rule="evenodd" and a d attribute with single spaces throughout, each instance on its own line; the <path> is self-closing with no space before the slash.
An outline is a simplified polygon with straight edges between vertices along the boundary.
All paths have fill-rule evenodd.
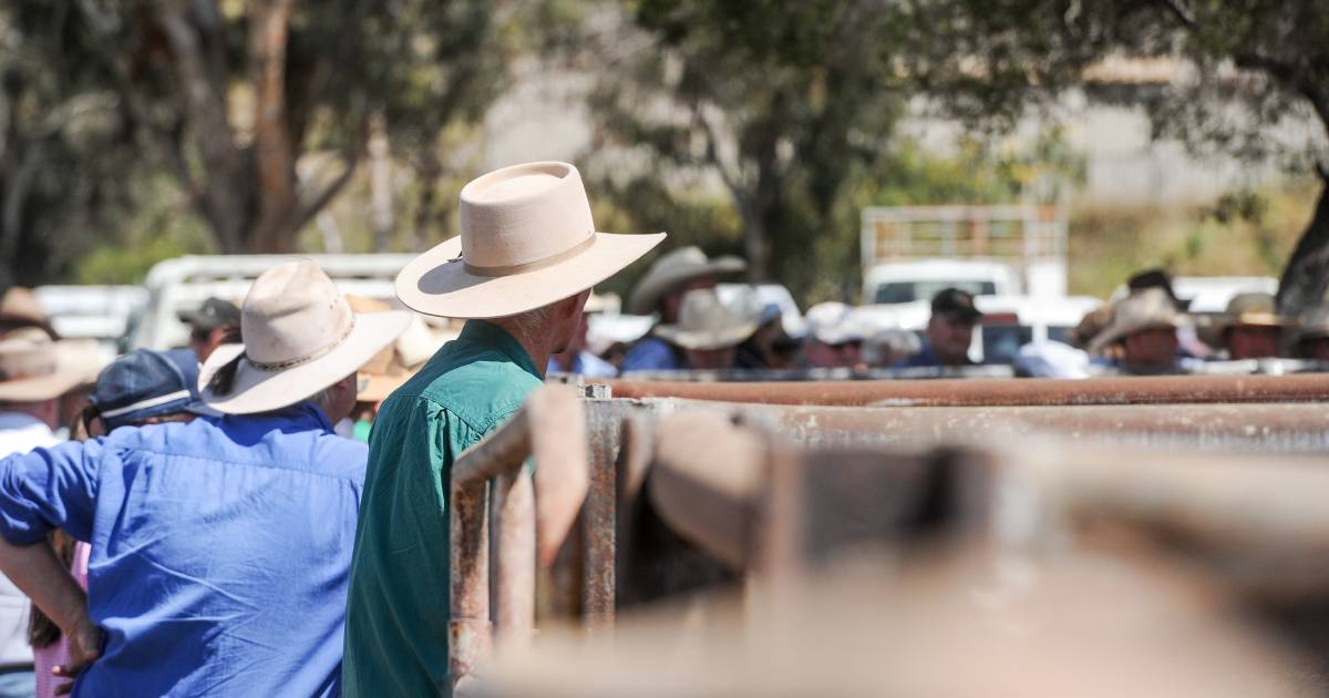
<path id="1" fill-rule="evenodd" d="M 502 277 L 468 271 L 459 235 L 412 259 L 397 274 L 397 298 L 425 315 L 506 318 L 574 296 L 618 274 L 664 239 L 664 233 L 594 235 L 594 242 L 573 257 Z"/>

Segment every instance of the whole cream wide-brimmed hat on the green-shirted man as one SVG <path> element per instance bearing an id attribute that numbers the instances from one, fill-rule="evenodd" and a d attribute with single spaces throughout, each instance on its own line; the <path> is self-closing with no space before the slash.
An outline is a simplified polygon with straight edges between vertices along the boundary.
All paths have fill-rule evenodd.
<path id="1" fill-rule="evenodd" d="M 461 189 L 461 234 L 397 275 L 407 307 L 444 318 L 505 318 L 574 296 L 664 239 L 597 233 L 577 168 L 513 165 Z"/>

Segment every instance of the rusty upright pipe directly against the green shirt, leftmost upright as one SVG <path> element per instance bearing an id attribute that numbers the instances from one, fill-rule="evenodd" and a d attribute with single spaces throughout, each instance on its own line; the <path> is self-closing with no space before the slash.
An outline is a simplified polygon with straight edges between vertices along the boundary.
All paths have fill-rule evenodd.
<path id="1" fill-rule="evenodd" d="M 456 687 L 489 654 L 489 523 L 485 483 L 452 488 L 449 671 Z"/>

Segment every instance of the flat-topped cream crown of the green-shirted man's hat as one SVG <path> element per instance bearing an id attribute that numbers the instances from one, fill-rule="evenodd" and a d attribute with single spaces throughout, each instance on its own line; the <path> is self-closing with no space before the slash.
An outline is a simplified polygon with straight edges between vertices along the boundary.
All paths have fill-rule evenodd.
<path id="1" fill-rule="evenodd" d="M 461 257 L 470 267 L 530 265 L 594 239 L 581 173 L 566 162 L 513 165 L 461 190 Z"/>

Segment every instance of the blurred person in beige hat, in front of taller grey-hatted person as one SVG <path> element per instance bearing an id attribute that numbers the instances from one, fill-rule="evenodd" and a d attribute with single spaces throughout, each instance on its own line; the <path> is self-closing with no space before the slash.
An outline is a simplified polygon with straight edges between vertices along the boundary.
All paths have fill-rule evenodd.
<path id="1" fill-rule="evenodd" d="M 756 331 L 756 320 L 730 312 L 715 289 L 696 289 L 683 296 L 678 323 L 661 324 L 655 334 L 683 350 L 683 368 L 728 371 L 738 346 Z"/>

